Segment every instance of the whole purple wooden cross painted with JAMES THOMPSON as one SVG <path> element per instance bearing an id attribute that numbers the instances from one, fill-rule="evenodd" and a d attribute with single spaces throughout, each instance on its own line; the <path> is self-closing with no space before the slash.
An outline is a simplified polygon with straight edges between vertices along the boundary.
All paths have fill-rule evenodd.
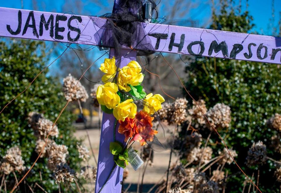
<path id="1" fill-rule="evenodd" d="M 115 0 L 114 9 L 118 8 Z M 114 11 L 114 10 L 113 10 Z M 106 19 L 74 16 L 62 13 L 20 10 L 0 7 L 0 36 L 46 40 L 85 45 L 98 45 L 94 34 L 101 30 Z M 281 64 L 281 38 L 219 30 L 188 28 L 173 25 L 140 23 L 153 51 L 188 54 L 224 59 L 248 60 Z M 110 48 L 113 57 L 114 47 Z M 136 51 L 122 47 L 120 67 L 136 59 Z M 118 62 L 118 61 L 116 61 Z M 96 192 L 105 184 L 114 165 L 109 143 L 113 141 L 115 118 L 103 113 Z M 117 132 L 117 141 L 124 136 Z M 101 192 L 121 192 L 123 169 L 115 167 Z"/>

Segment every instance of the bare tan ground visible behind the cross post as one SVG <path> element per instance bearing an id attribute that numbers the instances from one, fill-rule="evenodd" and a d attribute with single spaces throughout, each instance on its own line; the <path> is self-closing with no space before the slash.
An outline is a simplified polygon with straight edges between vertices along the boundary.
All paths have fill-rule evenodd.
<path id="1" fill-rule="evenodd" d="M 98 125 L 97 119 L 95 119 L 92 122 L 92 125 Z M 87 139 L 86 135 L 86 130 L 83 129 L 84 126 L 83 124 L 74 124 L 74 126 L 77 128 L 75 136 L 78 139 L 84 139 L 84 144 L 88 147 L 90 151 L 90 145 L 89 141 Z M 96 158 L 98 158 L 98 149 L 99 149 L 99 140 L 100 140 L 100 130 L 98 128 L 89 128 L 88 133 L 90 136 L 92 148 L 94 151 L 94 154 Z M 163 136 L 161 132 L 159 131 L 159 136 Z M 159 139 L 160 140 L 160 139 Z M 134 144 L 133 145 L 134 149 L 140 150 L 139 144 Z M 162 152 L 154 152 L 154 160 L 153 160 L 153 165 L 152 166 L 147 166 L 145 175 L 144 175 L 144 189 L 149 189 L 151 186 L 153 186 L 155 183 L 159 182 L 163 176 L 166 177 L 165 172 L 168 168 L 168 163 L 169 163 L 169 156 L 170 156 L 170 151 L 162 151 Z M 176 161 L 176 157 L 173 155 L 172 156 L 172 162 L 174 163 Z M 91 157 L 89 161 L 90 165 L 95 165 L 94 159 Z M 142 165 L 144 166 L 144 164 Z M 129 175 L 127 179 L 124 182 L 124 187 L 127 187 L 128 185 L 131 184 L 131 187 L 129 189 L 130 192 L 136 192 L 137 184 L 139 181 L 139 176 L 140 172 L 142 172 L 143 167 L 138 169 L 137 171 L 134 171 L 132 166 L 129 164 L 127 166 L 127 169 L 129 171 Z M 140 177 L 141 180 L 141 177 Z M 145 191 L 143 191 L 145 192 Z"/>

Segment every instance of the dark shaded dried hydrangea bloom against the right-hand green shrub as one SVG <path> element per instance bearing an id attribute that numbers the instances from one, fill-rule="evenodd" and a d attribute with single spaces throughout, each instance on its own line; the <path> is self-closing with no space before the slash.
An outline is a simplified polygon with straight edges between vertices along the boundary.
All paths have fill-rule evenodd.
<path id="1" fill-rule="evenodd" d="M 266 160 L 266 146 L 262 141 L 254 142 L 248 150 L 248 156 L 246 157 L 247 166 L 262 165 Z"/>

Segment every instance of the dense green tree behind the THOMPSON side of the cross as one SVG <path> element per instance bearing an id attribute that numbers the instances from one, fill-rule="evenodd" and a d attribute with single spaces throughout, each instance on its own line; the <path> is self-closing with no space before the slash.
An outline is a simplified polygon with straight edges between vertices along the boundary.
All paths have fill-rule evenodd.
<path id="1" fill-rule="evenodd" d="M 212 29 L 248 33 L 253 27 L 253 18 L 247 11 L 231 6 L 231 2 L 221 1 L 219 13 L 213 11 Z M 220 130 L 222 138 L 229 147 L 237 151 L 236 161 L 256 182 L 258 167 L 248 168 L 245 164 L 247 151 L 253 142 L 263 141 L 267 146 L 267 155 L 279 160 L 280 153 L 270 148 L 271 137 L 277 131 L 267 126 L 267 120 L 275 113 L 281 112 L 281 74 L 280 65 L 248 61 L 223 60 L 216 58 L 196 57 L 195 62 L 186 67 L 188 81 L 185 86 L 195 100 L 203 99 L 208 108 L 216 103 L 224 103 L 231 108 L 232 122 L 227 129 Z M 202 62 L 205 60 L 204 62 Z M 185 93 L 185 91 L 184 91 Z M 186 94 L 186 93 L 185 93 Z M 191 102 L 190 97 L 187 99 Z M 209 130 L 202 129 L 203 136 Z M 222 150 L 224 145 L 213 133 L 210 143 L 213 149 Z M 280 141 L 279 141 L 280 143 Z M 259 188 L 263 192 L 278 192 L 274 171 L 276 164 L 267 160 L 260 168 Z M 227 192 L 242 192 L 245 176 L 236 165 L 229 169 Z"/>

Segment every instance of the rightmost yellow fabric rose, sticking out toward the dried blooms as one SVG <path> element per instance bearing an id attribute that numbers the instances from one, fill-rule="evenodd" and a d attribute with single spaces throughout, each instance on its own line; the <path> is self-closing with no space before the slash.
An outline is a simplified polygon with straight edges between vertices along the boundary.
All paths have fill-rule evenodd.
<path id="1" fill-rule="evenodd" d="M 143 111 L 152 115 L 155 111 L 162 109 L 161 103 L 163 103 L 164 101 L 165 99 L 160 94 L 156 94 L 153 96 L 153 94 L 150 93 L 144 98 Z"/>

